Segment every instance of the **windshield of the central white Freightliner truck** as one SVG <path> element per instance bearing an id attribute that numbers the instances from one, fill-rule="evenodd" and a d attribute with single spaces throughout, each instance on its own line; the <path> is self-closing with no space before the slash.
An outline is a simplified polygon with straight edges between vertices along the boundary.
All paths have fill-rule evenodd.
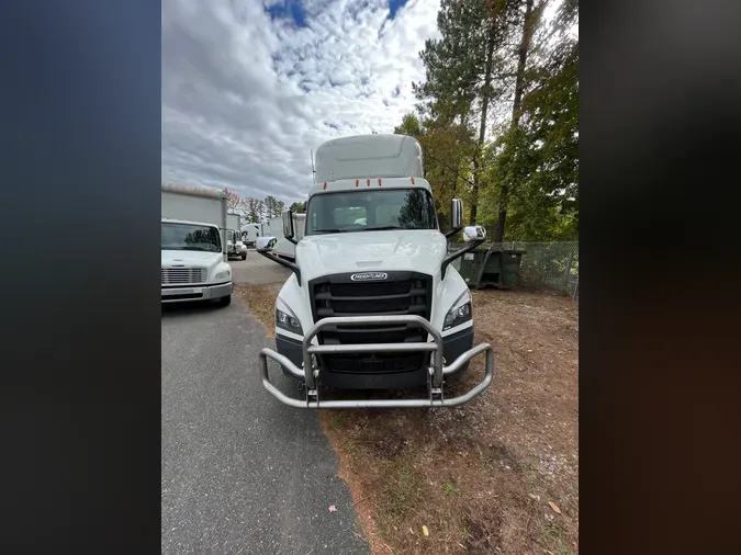
<path id="1" fill-rule="evenodd" d="M 323 193 L 306 209 L 306 234 L 437 229 L 435 204 L 424 189 Z"/>

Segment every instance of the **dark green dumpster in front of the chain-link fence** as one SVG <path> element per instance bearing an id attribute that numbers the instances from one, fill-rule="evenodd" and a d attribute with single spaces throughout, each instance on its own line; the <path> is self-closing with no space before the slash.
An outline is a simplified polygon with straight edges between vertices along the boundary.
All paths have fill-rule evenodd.
<path id="1" fill-rule="evenodd" d="M 516 287 L 524 253 L 523 250 L 504 250 L 497 245 L 481 245 L 463 254 L 458 271 L 470 287 Z"/>

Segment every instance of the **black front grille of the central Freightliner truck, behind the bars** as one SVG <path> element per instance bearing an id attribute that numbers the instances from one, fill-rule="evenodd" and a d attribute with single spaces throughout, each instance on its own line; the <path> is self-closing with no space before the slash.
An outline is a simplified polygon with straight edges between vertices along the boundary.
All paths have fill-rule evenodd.
<path id="1" fill-rule="evenodd" d="M 351 273 L 313 280 L 310 294 L 314 321 L 333 316 L 417 315 L 429 319 L 433 278 L 417 272 L 383 272 L 385 280 L 352 281 Z M 324 344 L 401 343 L 427 341 L 413 326 L 334 326 L 319 333 Z M 362 353 L 324 355 L 333 372 L 380 373 L 417 370 L 428 353 Z"/>

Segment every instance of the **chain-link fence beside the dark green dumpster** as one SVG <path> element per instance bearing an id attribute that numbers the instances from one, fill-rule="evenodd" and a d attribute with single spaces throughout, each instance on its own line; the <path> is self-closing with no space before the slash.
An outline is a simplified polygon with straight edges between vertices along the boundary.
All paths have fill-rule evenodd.
<path id="1" fill-rule="evenodd" d="M 579 297 L 579 241 L 514 241 L 503 247 L 525 251 L 520 268 L 521 285 Z"/>

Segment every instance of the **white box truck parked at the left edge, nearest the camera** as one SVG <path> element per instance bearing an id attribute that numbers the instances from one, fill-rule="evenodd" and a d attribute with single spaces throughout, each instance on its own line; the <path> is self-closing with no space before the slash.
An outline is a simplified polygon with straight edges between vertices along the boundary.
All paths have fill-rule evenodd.
<path id="1" fill-rule="evenodd" d="M 222 191 L 162 184 L 162 303 L 232 302 Z"/>

